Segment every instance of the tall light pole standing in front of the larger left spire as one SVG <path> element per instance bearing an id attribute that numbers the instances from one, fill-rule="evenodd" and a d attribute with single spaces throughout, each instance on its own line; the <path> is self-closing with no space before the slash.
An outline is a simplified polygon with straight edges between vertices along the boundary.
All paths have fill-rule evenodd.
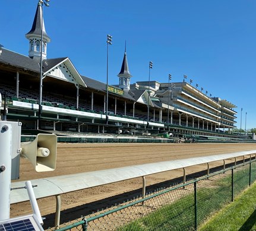
<path id="1" fill-rule="evenodd" d="M 39 110 L 38 110 L 38 128 L 41 129 L 42 114 L 42 92 L 43 92 L 43 5 L 50 7 L 50 0 L 39 0 L 38 5 L 41 7 L 41 43 L 40 43 L 40 88 L 39 88 Z"/>

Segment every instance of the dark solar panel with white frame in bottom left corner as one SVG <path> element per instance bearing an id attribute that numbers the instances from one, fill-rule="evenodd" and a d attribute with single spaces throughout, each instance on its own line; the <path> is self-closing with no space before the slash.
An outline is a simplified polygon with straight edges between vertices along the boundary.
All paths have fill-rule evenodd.
<path id="1" fill-rule="evenodd" d="M 43 227 L 33 214 L 0 222 L 0 231 L 42 231 Z"/>

